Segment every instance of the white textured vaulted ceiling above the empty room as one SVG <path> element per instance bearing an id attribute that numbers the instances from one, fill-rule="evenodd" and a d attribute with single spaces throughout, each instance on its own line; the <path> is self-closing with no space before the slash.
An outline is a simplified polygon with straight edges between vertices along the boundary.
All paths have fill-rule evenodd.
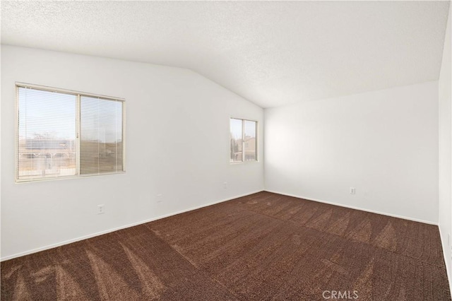
<path id="1" fill-rule="evenodd" d="M 448 1 L 2 1 L 1 43 L 192 69 L 261 107 L 439 77 Z"/>

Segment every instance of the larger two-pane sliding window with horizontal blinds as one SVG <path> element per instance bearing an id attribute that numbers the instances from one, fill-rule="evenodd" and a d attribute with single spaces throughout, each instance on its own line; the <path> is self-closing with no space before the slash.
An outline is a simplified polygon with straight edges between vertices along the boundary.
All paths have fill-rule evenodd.
<path id="1" fill-rule="evenodd" d="M 124 172 L 124 100 L 16 89 L 16 181 Z"/>

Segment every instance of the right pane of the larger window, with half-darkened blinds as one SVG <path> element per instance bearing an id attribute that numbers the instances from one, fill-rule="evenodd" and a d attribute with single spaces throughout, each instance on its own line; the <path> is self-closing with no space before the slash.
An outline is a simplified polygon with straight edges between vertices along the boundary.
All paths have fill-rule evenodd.
<path id="1" fill-rule="evenodd" d="M 82 96 L 80 106 L 81 175 L 123 171 L 122 102 Z"/>

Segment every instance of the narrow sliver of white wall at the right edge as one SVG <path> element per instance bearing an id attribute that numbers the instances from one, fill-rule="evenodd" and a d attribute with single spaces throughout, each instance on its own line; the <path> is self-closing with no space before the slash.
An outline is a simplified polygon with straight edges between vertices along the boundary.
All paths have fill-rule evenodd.
<path id="1" fill-rule="evenodd" d="M 452 232 L 452 106 L 451 106 L 451 9 L 444 40 L 443 60 L 439 74 L 439 230 L 443 242 L 449 283 L 451 283 Z"/>

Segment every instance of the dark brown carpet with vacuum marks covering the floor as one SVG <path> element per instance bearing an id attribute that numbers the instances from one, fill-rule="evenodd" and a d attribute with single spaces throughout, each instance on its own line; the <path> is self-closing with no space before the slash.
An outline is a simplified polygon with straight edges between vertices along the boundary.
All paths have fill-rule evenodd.
<path id="1" fill-rule="evenodd" d="M 260 192 L 1 263 L 1 300 L 333 296 L 451 300 L 438 228 Z"/>

